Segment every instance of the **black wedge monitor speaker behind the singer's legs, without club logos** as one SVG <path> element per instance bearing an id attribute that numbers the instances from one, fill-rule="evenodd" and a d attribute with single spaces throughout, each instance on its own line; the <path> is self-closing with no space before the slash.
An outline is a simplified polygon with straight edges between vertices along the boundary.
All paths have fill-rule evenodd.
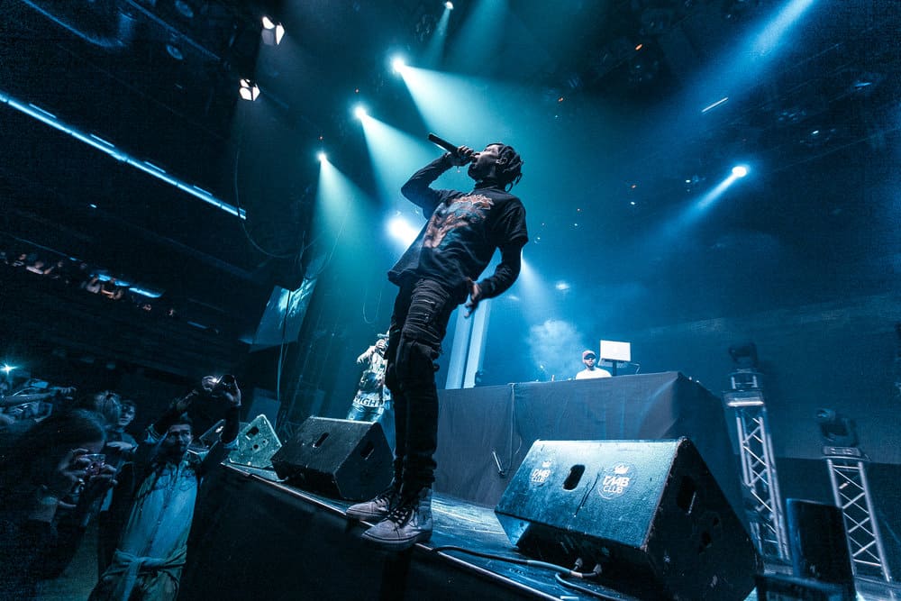
<path id="1" fill-rule="evenodd" d="M 391 449 L 378 422 L 308 417 L 272 456 L 279 478 L 309 492 L 361 501 L 391 482 Z"/>

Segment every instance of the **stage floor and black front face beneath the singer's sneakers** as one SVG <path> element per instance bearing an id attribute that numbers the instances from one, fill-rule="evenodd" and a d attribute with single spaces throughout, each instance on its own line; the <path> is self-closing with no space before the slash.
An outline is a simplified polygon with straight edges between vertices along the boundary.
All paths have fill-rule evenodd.
<path id="1" fill-rule="evenodd" d="M 529 558 L 509 542 L 493 509 L 452 496 L 434 496 L 430 542 L 392 553 L 363 543 L 359 534 L 367 525 L 345 518 L 348 501 L 278 482 L 266 470 L 226 465 L 214 479 L 198 508 L 180 598 L 222 600 L 261 591 L 268 599 L 314 592 L 334 599 L 655 598 L 642 592 L 641 582 L 615 574 L 567 578 L 574 588 L 553 569 L 506 561 Z M 235 554 L 240 569 L 231 567 Z M 858 597 L 882 601 L 901 594 L 884 583 L 860 583 Z"/>

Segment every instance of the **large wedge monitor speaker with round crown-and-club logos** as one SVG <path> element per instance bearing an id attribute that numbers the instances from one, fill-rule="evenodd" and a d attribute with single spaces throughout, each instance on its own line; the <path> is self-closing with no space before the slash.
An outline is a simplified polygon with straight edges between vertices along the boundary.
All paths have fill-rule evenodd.
<path id="1" fill-rule="evenodd" d="M 695 446 L 537 441 L 495 509 L 524 554 L 642 599 L 742 600 L 759 560 Z"/>

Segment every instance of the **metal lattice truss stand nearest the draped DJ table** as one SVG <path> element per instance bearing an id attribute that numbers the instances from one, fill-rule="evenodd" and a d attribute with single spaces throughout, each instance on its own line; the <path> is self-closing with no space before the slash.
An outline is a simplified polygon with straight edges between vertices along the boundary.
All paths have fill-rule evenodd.
<path id="1" fill-rule="evenodd" d="M 733 378 L 734 386 L 735 378 Z M 756 378 L 754 384 L 757 384 Z M 785 515 L 779 495 L 776 455 L 769 437 L 767 409 L 760 388 L 724 393 L 726 405 L 735 409 L 742 485 L 751 536 L 766 560 L 790 560 Z"/>

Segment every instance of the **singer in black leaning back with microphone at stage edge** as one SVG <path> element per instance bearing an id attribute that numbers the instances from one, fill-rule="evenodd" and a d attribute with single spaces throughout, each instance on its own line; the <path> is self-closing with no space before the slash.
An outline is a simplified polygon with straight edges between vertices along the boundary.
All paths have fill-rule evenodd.
<path id="1" fill-rule="evenodd" d="M 430 184 L 453 166 L 470 163 L 476 182 L 467 192 Z M 511 287 L 528 241 L 523 203 L 509 193 L 522 178 L 523 159 L 501 143 L 474 152 L 460 146 L 417 171 L 401 192 L 423 209 L 423 231 L 388 272 L 400 287 L 388 331 L 386 385 L 395 404 L 394 480 L 367 503 L 351 505 L 349 517 L 378 521 L 363 537 L 402 550 L 432 536 L 434 452 L 438 446 L 438 390 L 434 360 L 451 312 L 469 296 L 479 301 Z M 490 278 L 476 281 L 495 250 L 501 262 Z"/>

